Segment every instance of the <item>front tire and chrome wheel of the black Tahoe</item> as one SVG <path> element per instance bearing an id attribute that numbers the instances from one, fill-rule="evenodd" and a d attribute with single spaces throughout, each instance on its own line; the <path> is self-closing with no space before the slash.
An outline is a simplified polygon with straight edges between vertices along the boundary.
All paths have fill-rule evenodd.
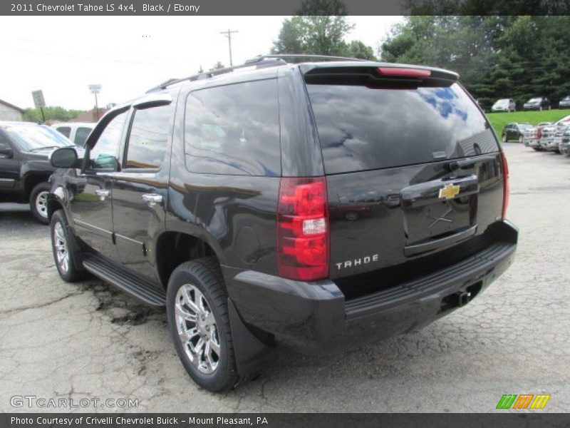
<path id="1" fill-rule="evenodd" d="M 63 210 L 57 210 L 51 216 L 50 222 L 51 250 L 53 260 L 61 279 L 66 282 L 76 282 L 86 277 L 86 271 L 81 267 L 83 254 L 73 232 L 69 228 Z"/>

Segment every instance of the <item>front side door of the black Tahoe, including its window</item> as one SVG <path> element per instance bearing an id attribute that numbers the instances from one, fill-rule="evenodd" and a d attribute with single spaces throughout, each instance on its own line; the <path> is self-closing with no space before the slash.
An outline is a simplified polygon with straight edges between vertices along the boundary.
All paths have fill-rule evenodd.
<path id="1" fill-rule="evenodd" d="M 113 244 L 113 173 L 118 170 L 118 152 L 126 113 L 115 116 L 86 152 L 86 165 L 77 175 L 71 213 L 76 235 L 101 255 L 115 259 Z"/>

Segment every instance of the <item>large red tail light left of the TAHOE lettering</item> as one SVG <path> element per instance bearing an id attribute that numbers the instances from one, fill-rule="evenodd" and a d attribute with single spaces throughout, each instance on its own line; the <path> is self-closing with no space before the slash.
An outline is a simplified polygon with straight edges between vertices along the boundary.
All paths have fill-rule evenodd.
<path id="1" fill-rule="evenodd" d="M 277 205 L 279 275 L 314 281 L 328 277 L 326 180 L 281 178 Z"/>

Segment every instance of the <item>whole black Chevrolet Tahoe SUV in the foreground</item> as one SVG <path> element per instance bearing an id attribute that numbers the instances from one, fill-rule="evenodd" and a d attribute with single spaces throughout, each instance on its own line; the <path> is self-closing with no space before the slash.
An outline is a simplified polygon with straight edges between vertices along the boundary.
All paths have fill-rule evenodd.
<path id="1" fill-rule="evenodd" d="M 165 305 L 211 391 L 257 372 L 276 338 L 418 329 L 514 257 L 504 153 L 457 74 L 316 59 L 167 81 L 108 112 L 85 156 L 51 157 L 63 280 L 87 271 Z"/>

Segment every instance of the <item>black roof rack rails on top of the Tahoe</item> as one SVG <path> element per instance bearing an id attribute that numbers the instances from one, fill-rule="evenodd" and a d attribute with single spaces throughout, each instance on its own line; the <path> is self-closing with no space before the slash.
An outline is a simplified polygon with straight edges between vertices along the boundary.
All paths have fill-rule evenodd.
<path id="1" fill-rule="evenodd" d="M 176 83 L 182 83 L 185 81 L 197 81 L 202 78 L 211 78 L 214 76 L 219 76 L 220 74 L 229 73 L 230 71 L 237 70 L 239 68 L 246 68 L 256 66 L 257 68 L 264 67 L 274 67 L 282 66 L 287 63 L 285 58 L 315 58 L 321 61 L 366 61 L 359 58 L 347 58 L 345 56 L 326 56 L 326 55 L 309 55 L 309 54 L 270 54 L 270 55 L 259 55 L 254 58 L 250 58 L 243 64 L 238 66 L 215 68 L 214 70 L 204 71 L 203 73 L 192 74 L 192 76 L 183 78 L 169 78 L 167 81 L 160 83 L 154 88 L 150 88 L 147 93 L 160 91 L 161 89 L 166 89 L 168 86 L 175 85 Z"/>

